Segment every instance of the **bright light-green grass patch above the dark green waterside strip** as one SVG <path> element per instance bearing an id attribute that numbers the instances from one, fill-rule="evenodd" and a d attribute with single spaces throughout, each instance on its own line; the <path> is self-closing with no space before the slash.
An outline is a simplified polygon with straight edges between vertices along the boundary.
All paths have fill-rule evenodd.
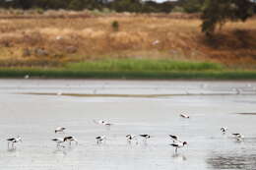
<path id="1" fill-rule="evenodd" d="M 154 59 L 108 59 L 70 63 L 66 66 L 76 71 L 132 71 L 132 72 L 169 72 L 169 71 L 206 71 L 222 70 L 224 67 L 217 63 L 188 62 L 175 60 Z"/>

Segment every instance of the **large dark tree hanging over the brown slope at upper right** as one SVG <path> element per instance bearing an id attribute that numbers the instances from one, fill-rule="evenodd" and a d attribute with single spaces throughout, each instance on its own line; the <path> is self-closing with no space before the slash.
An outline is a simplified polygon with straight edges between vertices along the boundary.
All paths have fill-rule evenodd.
<path id="1" fill-rule="evenodd" d="M 253 15 L 250 0 L 206 0 L 202 14 L 202 31 L 212 35 L 216 28 L 222 28 L 227 21 L 245 22 Z"/>

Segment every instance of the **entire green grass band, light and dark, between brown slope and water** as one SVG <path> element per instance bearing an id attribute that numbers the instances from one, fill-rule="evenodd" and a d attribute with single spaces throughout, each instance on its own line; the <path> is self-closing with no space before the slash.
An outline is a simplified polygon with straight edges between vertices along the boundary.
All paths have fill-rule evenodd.
<path id="1" fill-rule="evenodd" d="M 99 60 L 59 68 L 1 68 L 0 78 L 256 80 L 256 71 L 227 70 L 216 63 L 172 60 Z"/>

